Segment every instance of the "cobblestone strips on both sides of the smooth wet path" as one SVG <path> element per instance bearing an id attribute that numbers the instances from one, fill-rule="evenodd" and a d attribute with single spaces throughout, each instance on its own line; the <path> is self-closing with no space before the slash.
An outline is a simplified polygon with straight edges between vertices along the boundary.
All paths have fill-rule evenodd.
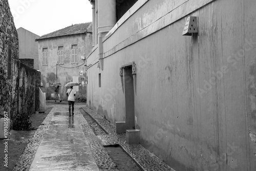
<path id="1" fill-rule="evenodd" d="M 61 105 L 61 104 L 59 104 Z M 78 109 L 80 108 L 80 110 Z M 150 153 L 140 144 L 129 145 L 126 143 L 125 134 L 115 134 L 115 125 L 111 124 L 108 120 L 104 119 L 99 114 L 95 113 L 86 106 L 76 106 L 76 117 L 79 117 L 79 125 L 86 136 L 90 145 L 91 151 L 95 161 L 101 171 L 112 170 L 118 171 L 116 163 L 109 156 L 103 145 L 119 144 L 123 151 L 126 152 L 140 167 L 141 170 L 157 171 L 157 170 L 171 170 L 175 171 L 163 161 L 161 161 L 153 153 Z M 38 127 L 32 139 L 29 139 L 27 147 L 24 149 L 23 154 L 16 162 L 13 171 L 29 170 L 31 163 L 34 159 L 35 153 L 39 144 L 44 137 L 54 114 L 54 109 L 48 114 L 44 122 Z M 91 118 L 97 122 L 105 133 L 95 135 L 95 130 L 89 125 L 84 115 L 89 114 Z"/>

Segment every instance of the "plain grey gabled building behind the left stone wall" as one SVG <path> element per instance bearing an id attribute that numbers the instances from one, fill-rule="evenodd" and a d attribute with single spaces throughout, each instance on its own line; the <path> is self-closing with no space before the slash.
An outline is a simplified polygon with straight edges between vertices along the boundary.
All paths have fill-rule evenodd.
<path id="1" fill-rule="evenodd" d="M 38 42 L 36 38 L 40 37 L 22 27 L 17 29 L 19 39 L 19 59 L 34 59 L 34 69 L 38 70 Z"/>

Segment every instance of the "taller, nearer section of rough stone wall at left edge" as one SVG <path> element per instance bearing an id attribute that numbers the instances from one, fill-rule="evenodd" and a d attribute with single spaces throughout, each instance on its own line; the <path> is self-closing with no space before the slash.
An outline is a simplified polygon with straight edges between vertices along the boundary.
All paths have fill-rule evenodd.
<path id="1" fill-rule="evenodd" d="M 18 35 L 7 0 L 0 1 L 0 115 L 17 115 Z M 11 78 L 8 77 L 8 46 L 11 46 Z"/>

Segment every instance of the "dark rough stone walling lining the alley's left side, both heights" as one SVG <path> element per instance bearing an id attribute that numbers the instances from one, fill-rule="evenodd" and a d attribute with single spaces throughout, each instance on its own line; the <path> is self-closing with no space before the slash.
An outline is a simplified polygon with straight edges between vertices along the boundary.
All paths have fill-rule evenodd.
<path id="1" fill-rule="evenodd" d="M 40 72 L 18 60 L 18 34 L 8 1 L 0 1 L 0 7 L 0 118 L 8 113 L 11 129 L 19 130 L 39 108 Z"/>

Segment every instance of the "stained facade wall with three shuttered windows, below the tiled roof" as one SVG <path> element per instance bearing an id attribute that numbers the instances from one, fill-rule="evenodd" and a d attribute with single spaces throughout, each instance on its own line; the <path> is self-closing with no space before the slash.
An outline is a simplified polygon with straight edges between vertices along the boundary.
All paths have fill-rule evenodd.
<path id="1" fill-rule="evenodd" d="M 78 63 L 71 63 L 72 45 L 78 47 Z M 73 77 L 78 77 L 78 82 L 84 84 L 79 86 L 78 92 L 76 92 L 76 100 L 86 99 L 86 68 L 84 67 L 84 61 L 81 56 L 86 56 L 92 49 L 92 34 L 78 34 L 70 36 L 61 36 L 57 38 L 48 38 L 38 40 L 38 52 L 39 52 L 39 70 L 41 72 L 41 82 L 43 87 L 41 90 L 46 93 L 46 98 L 51 99 L 51 94 L 54 92 L 54 87 L 51 87 L 56 82 L 56 63 L 58 61 L 58 47 L 63 46 L 64 64 L 59 65 L 57 68 L 58 82 L 63 86 L 66 83 L 75 81 Z M 48 66 L 42 65 L 42 48 L 48 48 Z M 65 68 L 63 68 L 65 67 Z M 80 75 L 80 71 L 83 70 L 83 75 Z M 67 89 L 70 87 L 60 87 L 60 98 L 67 100 Z"/>

